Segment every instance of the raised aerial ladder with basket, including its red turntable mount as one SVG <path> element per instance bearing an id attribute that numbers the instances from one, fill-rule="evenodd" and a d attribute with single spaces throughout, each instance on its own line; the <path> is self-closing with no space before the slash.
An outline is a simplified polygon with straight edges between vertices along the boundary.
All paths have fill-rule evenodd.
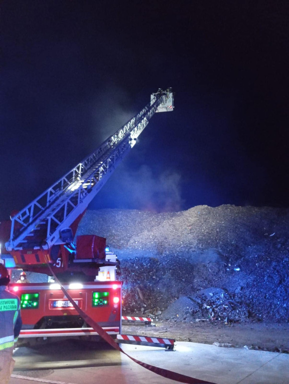
<path id="1" fill-rule="evenodd" d="M 172 89 L 159 88 L 136 116 L 11 217 L 11 235 L 6 249 L 19 268 L 48 273 L 49 263 L 57 272 L 64 273 L 69 269 L 95 274 L 100 261 L 104 263 L 103 253 L 93 257 L 89 270 L 84 270 L 83 264 L 71 262 L 77 252 L 73 240 L 78 224 L 89 203 L 135 145 L 154 113 L 172 111 L 173 108 Z"/>

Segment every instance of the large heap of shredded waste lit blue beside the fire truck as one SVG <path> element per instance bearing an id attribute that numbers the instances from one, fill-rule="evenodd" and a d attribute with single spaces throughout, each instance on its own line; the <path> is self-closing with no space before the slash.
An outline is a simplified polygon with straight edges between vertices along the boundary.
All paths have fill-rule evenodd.
<path id="1" fill-rule="evenodd" d="M 124 312 L 171 321 L 289 319 L 289 210 L 87 211 L 78 234 L 121 261 Z"/>

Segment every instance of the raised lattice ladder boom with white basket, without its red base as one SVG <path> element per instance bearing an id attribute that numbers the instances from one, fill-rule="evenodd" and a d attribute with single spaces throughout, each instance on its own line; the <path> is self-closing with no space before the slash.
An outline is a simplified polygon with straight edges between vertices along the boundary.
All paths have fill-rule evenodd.
<path id="1" fill-rule="evenodd" d="M 51 249 L 73 240 L 70 226 L 133 147 L 155 112 L 173 110 L 171 88 L 151 95 L 151 102 L 99 148 L 12 217 L 9 251 Z"/>

